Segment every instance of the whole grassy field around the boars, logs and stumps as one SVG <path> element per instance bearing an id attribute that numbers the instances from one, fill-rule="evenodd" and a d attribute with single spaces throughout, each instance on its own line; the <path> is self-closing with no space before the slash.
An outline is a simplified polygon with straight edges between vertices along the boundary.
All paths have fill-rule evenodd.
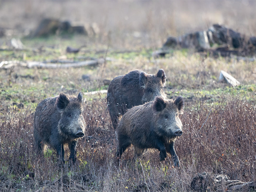
<path id="1" fill-rule="evenodd" d="M 70 19 L 95 21 L 101 29 L 96 37 L 57 35 L 33 39 L 24 38 L 21 35 L 23 29 L 17 29 L 14 37 L 20 37 L 26 49 L 6 49 L 10 37 L 0 38 L 0 48 L 6 49 L 0 51 L 2 61 L 110 58 L 102 64 L 80 68 L 0 68 L 0 191 L 193 191 L 190 186 L 192 178 L 204 172 L 227 175 L 230 180 L 256 180 L 256 62 L 212 58 L 207 53 L 188 49 L 171 50 L 165 58 L 151 55 L 168 35 L 204 29 L 214 22 L 224 22 L 229 27 L 239 25 L 240 32 L 255 35 L 256 26 L 250 25 L 255 15 L 255 3 L 243 1 L 245 3 L 231 5 L 227 1 L 227 5 L 220 7 L 219 1 L 210 5 L 193 1 L 191 5 L 194 6 L 189 9 L 186 1 L 180 2 L 102 1 L 97 9 L 102 15 L 108 15 L 104 21 L 100 15 L 93 11 L 83 12 L 77 3 L 69 0 L 61 5 L 58 1 L 48 0 L 44 6 L 40 1 L 32 3 L 27 0 L 23 4 L 0 1 L 3 3 L 2 19 L 5 12 L 13 10 L 14 3 L 24 8 L 1 20 L 3 26 L 12 21 L 10 27 L 21 23 L 22 28 L 30 29 L 36 26 L 38 17 L 49 15 L 67 19 L 77 8 L 77 13 L 71 14 Z M 91 1 L 80 3 L 85 10 L 97 6 Z M 165 3 L 172 7 L 173 15 L 168 15 L 170 10 Z M 36 15 L 35 10 L 40 6 L 42 9 Z M 55 12 L 48 9 L 54 6 Z M 201 8 L 207 9 L 208 6 L 211 6 L 209 12 L 202 11 Z M 231 10 L 237 10 L 234 11 L 236 14 L 227 11 L 229 6 Z M 142 7 L 143 12 L 139 13 Z M 197 12 L 197 9 L 201 11 Z M 131 10 L 138 12 L 133 15 Z M 205 17 L 201 17 L 202 14 Z M 139 19 L 125 24 L 117 15 L 122 15 L 122 19 L 128 17 L 129 21 Z M 87 20 L 81 19 L 84 17 Z M 158 22 L 160 19 L 163 25 Z M 201 24 L 197 25 L 197 20 Z M 137 35 L 132 35 L 134 33 Z M 84 47 L 74 54 L 66 53 L 67 46 Z M 108 85 L 103 80 L 111 80 L 131 70 L 157 73 L 160 68 L 167 76 L 164 88 L 167 97 L 175 99 L 181 95 L 185 101 L 184 114 L 180 116 L 183 135 L 175 143 L 180 168 L 172 166 L 171 156 L 160 162 L 157 150 L 147 150 L 140 159 L 134 160 L 132 147 L 117 161 L 117 140 L 107 110 L 106 94 L 87 93 L 107 90 Z M 230 87 L 225 82 L 218 82 L 221 70 L 230 73 L 241 85 Z M 90 79 L 84 80 L 82 75 L 88 75 Z M 79 140 L 76 164 L 69 167 L 66 163 L 63 169 L 59 167 L 52 148 L 45 148 L 43 158 L 37 157 L 33 148 L 35 108 L 41 100 L 61 92 L 76 96 L 79 92 L 85 93 L 83 116 L 86 122 L 86 134 Z M 68 155 L 66 152 L 66 160 Z M 226 186 L 222 187 L 219 190 L 227 190 Z M 203 191 L 206 190 L 216 189 L 209 187 Z"/>

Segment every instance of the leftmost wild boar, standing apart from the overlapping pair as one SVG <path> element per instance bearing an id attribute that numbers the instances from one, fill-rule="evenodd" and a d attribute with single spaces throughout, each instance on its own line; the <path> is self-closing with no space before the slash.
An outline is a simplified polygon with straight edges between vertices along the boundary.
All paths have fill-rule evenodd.
<path id="1" fill-rule="evenodd" d="M 44 143 L 57 151 L 57 155 L 64 161 L 64 144 L 70 148 L 69 159 L 76 161 L 77 138 L 84 136 L 85 122 L 82 116 L 83 95 L 77 97 L 61 93 L 41 101 L 34 118 L 35 148 L 42 153 Z"/>

